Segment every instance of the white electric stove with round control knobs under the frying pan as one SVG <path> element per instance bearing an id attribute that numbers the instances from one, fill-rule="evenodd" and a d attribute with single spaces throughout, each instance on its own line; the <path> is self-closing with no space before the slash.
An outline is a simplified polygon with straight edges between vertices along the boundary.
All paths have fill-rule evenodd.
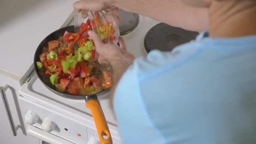
<path id="1" fill-rule="evenodd" d="M 136 29 L 123 35 L 128 51 L 136 57 L 146 56 L 144 37 L 148 30 L 158 23 L 140 16 Z M 69 25 L 72 25 L 72 22 Z M 110 108 L 109 94 L 100 96 L 98 99 L 113 143 L 122 144 L 117 131 L 117 122 Z M 35 72 L 20 89 L 19 105 L 27 133 L 42 141 L 50 144 L 89 144 L 91 142 L 99 144 L 96 125 L 90 109 L 85 106 L 85 100 L 66 99 L 52 93 L 41 83 Z"/>

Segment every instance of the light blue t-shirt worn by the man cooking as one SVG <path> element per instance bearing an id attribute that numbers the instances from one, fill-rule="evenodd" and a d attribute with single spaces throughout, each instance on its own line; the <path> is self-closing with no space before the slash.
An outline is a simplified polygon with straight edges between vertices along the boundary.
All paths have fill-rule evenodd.
<path id="1" fill-rule="evenodd" d="M 124 144 L 256 144 L 256 35 L 136 59 L 114 110 Z"/>

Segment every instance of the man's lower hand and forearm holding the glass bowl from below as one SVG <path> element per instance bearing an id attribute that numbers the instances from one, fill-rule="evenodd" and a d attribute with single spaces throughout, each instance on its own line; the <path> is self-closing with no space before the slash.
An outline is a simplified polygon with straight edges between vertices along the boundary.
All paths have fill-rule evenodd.
<path id="1" fill-rule="evenodd" d="M 113 102 L 113 94 L 115 87 L 122 77 L 126 69 L 133 64 L 135 56 L 129 53 L 126 49 L 125 42 L 122 37 L 119 37 L 120 47 L 113 44 L 105 44 L 101 38 L 93 31 L 89 31 L 88 35 L 92 37 L 95 44 L 95 50 L 99 53 L 99 63 L 109 62 L 113 69 L 112 88 L 111 88 L 111 102 Z"/>

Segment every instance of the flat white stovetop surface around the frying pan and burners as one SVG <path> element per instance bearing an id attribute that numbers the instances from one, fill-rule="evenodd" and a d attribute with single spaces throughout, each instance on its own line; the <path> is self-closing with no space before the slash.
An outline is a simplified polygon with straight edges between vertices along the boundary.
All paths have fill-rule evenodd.
<path id="1" fill-rule="evenodd" d="M 149 29 L 158 23 L 158 21 L 140 15 L 139 25 L 136 29 L 127 35 L 123 35 L 128 51 L 136 57 L 146 56 L 147 51 L 144 47 L 144 37 Z M 93 122 L 90 109 L 85 107 L 85 100 L 72 100 L 58 96 L 41 83 L 35 72 L 30 77 L 31 80 L 29 83 L 25 83 L 20 89 L 21 96 L 28 97 L 32 102 L 43 104 L 60 112 L 65 112 L 67 115 L 80 120 Z M 106 120 L 109 123 L 109 128 L 116 129 L 117 122 L 110 107 L 109 93 L 98 99 L 101 102 Z"/>

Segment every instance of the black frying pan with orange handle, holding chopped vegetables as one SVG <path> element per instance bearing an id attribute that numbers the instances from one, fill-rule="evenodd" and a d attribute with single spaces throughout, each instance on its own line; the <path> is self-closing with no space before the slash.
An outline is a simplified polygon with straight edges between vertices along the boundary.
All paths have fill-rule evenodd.
<path id="1" fill-rule="evenodd" d="M 45 37 L 45 39 L 38 45 L 37 50 L 35 51 L 35 57 L 34 57 L 34 67 L 35 67 L 36 74 L 39 77 L 40 81 L 45 85 L 45 87 L 48 88 L 53 93 L 57 94 L 58 96 L 62 96 L 67 99 L 77 99 L 77 100 L 85 99 L 85 105 L 91 110 L 91 113 L 93 115 L 101 144 L 112 144 L 112 138 L 109 132 L 107 121 L 104 116 L 104 113 L 102 112 L 101 104 L 97 98 L 98 96 L 103 96 L 104 94 L 108 93 L 110 88 L 104 91 L 101 91 L 100 93 L 95 93 L 87 96 L 69 95 L 65 93 L 60 93 L 56 91 L 54 87 L 48 86 L 39 75 L 36 62 L 40 61 L 39 55 L 42 53 L 43 48 L 48 47 L 49 41 L 57 40 L 59 37 L 63 36 L 65 31 L 75 32 L 74 25 L 63 27 L 61 29 L 56 30 L 55 32 L 52 32 L 50 35 Z"/>

